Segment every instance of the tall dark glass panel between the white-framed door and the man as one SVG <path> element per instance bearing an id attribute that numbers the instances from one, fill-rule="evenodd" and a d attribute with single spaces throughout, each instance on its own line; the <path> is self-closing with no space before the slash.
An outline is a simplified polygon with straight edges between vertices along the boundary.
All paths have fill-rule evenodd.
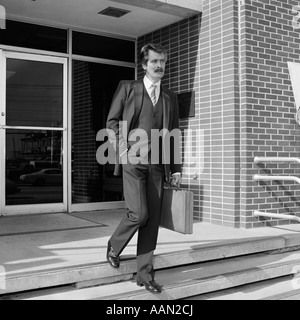
<path id="1" fill-rule="evenodd" d="M 120 80 L 132 80 L 135 69 L 83 61 L 73 62 L 72 203 L 120 201 L 121 177 L 113 165 L 97 163 L 96 142 L 105 128 L 113 94 Z"/>

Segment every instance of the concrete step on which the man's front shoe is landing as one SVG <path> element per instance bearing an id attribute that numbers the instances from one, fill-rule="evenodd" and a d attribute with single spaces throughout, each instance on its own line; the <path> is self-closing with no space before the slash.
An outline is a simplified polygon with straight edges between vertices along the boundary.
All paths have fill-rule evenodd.
<path id="1" fill-rule="evenodd" d="M 90 288 L 60 288 L 51 292 L 40 291 L 4 298 L 19 300 L 179 300 L 291 276 L 297 272 L 299 265 L 299 251 L 254 254 L 160 270 L 156 273 L 156 280 L 163 285 L 164 290 L 159 295 L 137 287 L 135 281 L 131 280 Z"/>

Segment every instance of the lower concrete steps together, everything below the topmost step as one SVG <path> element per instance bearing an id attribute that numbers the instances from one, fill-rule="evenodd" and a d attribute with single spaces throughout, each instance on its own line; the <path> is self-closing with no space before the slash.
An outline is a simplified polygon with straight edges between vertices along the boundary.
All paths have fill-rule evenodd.
<path id="1" fill-rule="evenodd" d="M 271 250 L 233 255 L 226 258 L 209 259 L 206 262 L 188 263 L 176 267 L 169 265 L 160 268 L 156 272 L 156 280 L 163 285 L 164 290 L 159 295 L 137 287 L 132 274 L 131 279 L 121 282 L 97 286 L 94 284 L 86 288 L 82 285 L 69 285 L 35 290 L 5 295 L 2 300 L 209 300 L 226 299 L 226 297 L 234 300 L 237 296 L 242 295 L 241 290 L 245 291 L 245 286 L 252 286 L 252 299 L 255 300 L 268 298 L 296 300 L 299 298 L 300 288 L 293 280 L 295 280 L 294 274 L 300 268 L 300 251 L 284 251 Z M 216 251 L 214 253 L 216 255 Z M 163 259 L 164 257 L 159 257 L 158 264 L 162 263 Z M 127 262 L 124 268 L 126 269 L 132 262 Z M 129 275 L 130 273 L 127 274 Z M 272 285 L 274 287 L 274 283 L 277 291 L 269 290 L 268 296 L 267 288 Z M 92 282 L 88 284 L 93 285 Z M 257 290 L 256 295 L 253 292 L 254 287 Z M 265 293 L 258 294 L 259 290 Z M 248 291 L 251 292 L 251 289 Z"/>

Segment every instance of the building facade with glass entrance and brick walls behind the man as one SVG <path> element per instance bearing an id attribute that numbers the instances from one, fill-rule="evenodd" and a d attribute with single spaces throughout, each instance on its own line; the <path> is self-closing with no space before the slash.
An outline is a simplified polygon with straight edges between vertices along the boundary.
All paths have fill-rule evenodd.
<path id="1" fill-rule="evenodd" d="M 233 228 L 293 223 L 254 212 L 297 215 L 299 185 L 254 177 L 300 172 L 293 162 L 255 161 L 299 157 L 288 63 L 300 58 L 300 3 L 203 0 L 182 7 L 166 1 L 158 7 L 163 1 L 150 1 L 146 8 L 149 1 L 117 2 L 127 11 L 143 7 L 176 19 L 162 27 L 153 20 L 150 32 L 136 36 L 129 29 L 124 35 L 49 25 L 25 14 L 6 19 L 0 30 L 1 214 L 124 207 L 121 179 L 96 161 L 97 133 L 118 82 L 143 76 L 137 55 L 154 42 L 169 51 L 163 84 L 180 98 L 183 187 L 194 193 L 195 220 Z"/>

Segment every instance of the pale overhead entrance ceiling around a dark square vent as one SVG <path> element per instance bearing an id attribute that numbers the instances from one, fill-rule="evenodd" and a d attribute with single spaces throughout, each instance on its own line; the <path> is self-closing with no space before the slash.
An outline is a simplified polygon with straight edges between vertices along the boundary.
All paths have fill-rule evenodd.
<path id="1" fill-rule="evenodd" d="M 169 10 L 159 10 L 150 6 L 149 9 L 147 4 L 150 2 L 157 4 L 163 1 L 140 0 L 138 3 L 135 0 L 1 0 L 1 5 L 6 9 L 7 18 L 73 27 L 78 30 L 101 31 L 130 38 L 137 38 L 184 19 L 184 8 L 178 10 L 177 7 L 177 10 L 172 10 L 169 6 Z M 127 3 L 135 3 L 135 6 Z M 98 14 L 108 7 L 125 9 L 130 13 L 121 18 Z M 186 13 L 189 12 L 186 9 Z M 191 15 L 191 12 L 189 14 Z"/>

